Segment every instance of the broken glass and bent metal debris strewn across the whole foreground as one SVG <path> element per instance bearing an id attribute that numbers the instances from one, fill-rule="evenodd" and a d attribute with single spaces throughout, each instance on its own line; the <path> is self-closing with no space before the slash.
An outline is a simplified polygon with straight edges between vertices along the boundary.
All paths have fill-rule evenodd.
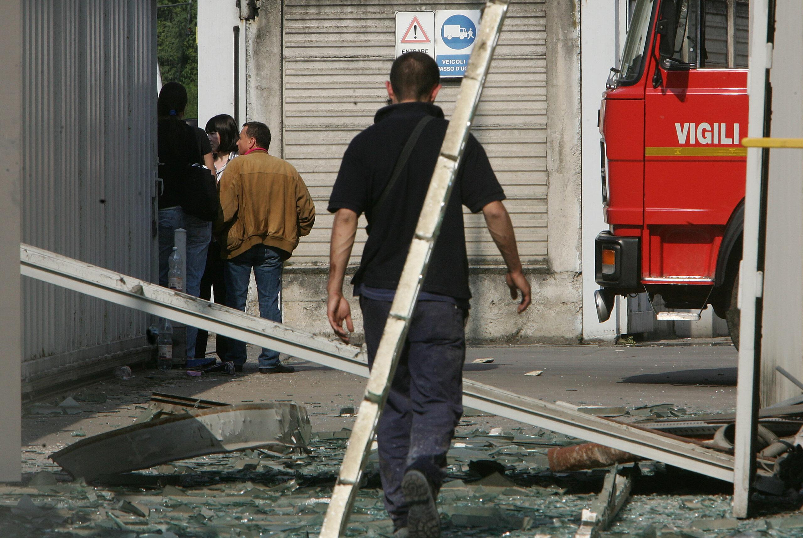
<path id="1" fill-rule="evenodd" d="M 41 411 L 63 414 L 81 406 L 73 398 L 63 403 Z M 668 403 L 577 409 L 697 443 L 732 421 Z M 340 407 L 338 415 L 354 411 Z M 762 424 L 781 439 L 801 427 L 801 409 L 762 413 Z M 476 416 L 467 409 L 447 456 L 448 477 L 438 497 L 443 536 L 803 535 L 800 512 L 779 514 L 801 506 L 789 488 L 761 494 L 763 516 L 732 520 L 727 483 L 652 461 L 559 469 L 556 454 L 587 455 L 589 443 L 535 427 L 478 429 L 471 423 Z M 169 430 L 185 427 L 175 443 Z M 351 431 L 310 429 L 307 411 L 294 403 L 230 406 L 154 393 L 132 426 L 78 439 L 53 454 L 70 475 L 39 471 L 24 486 L 0 487 L 0 536 L 316 536 Z M 377 467 L 374 449 L 349 536 L 392 536 Z M 573 468 L 581 467 L 593 465 Z M 801 467 L 783 467 L 781 483 L 791 483 Z"/>

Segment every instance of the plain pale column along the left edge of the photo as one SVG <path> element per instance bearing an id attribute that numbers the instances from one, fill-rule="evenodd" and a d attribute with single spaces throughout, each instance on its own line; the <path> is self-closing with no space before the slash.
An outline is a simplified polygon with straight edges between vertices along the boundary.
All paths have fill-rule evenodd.
<path id="1" fill-rule="evenodd" d="M 3 2 L 3 31 L 0 32 L 0 144 L 5 158 L 0 179 L 0 481 L 18 482 L 22 459 L 21 326 L 19 297 L 19 205 L 22 160 L 22 0 Z"/>

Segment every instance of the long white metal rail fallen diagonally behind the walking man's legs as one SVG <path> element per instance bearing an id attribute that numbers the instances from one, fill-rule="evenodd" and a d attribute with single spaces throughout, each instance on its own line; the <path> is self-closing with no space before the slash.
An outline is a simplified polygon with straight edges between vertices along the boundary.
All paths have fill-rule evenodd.
<path id="1" fill-rule="evenodd" d="M 20 246 L 20 261 L 22 275 L 26 277 L 368 377 L 365 354 L 356 346 L 333 342 L 31 245 Z M 733 481 L 732 455 L 670 435 L 585 415 L 467 379 L 463 380 L 463 403 L 506 419 Z"/>

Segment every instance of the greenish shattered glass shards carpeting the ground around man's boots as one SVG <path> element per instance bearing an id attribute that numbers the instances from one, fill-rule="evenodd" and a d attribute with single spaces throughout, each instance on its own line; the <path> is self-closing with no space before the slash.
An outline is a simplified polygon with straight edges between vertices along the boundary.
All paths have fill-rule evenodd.
<path id="1" fill-rule="evenodd" d="M 0 536 L 316 536 L 349 434 L 348 429 L 313 434 L 306 449 L 276 447 L 185 459 L 119 475 L 102 486 L 39 472 L 24 487 L 0 487 Z M 549 471 L 546 451 L 575 443 L 579 441 L 537 428 L 502 435 L 464 428 L 450 450 L 449 477 L 439 496 L 443 536 L 575 536 L 581 514 L 593 505 L 607 472 Z M 653 462 L 637 466 L 637 490 L 675 483 L 680 491 L 693 491 L 690 475 Z M 349 536 L 392 536 L 375 451 L 365 479 Z M 636 493 L 609 532 L 600 536 L 760 532 L 742 536 L 791 538 L 803 532 L 801 516 L 728 520 L 730 496 L 724 494 Z"/>

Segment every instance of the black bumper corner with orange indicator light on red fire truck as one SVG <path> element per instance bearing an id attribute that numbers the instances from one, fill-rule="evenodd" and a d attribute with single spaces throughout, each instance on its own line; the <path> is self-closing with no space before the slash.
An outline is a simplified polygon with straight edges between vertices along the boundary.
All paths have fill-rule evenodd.
<path id="1" fill-rule="evenodd" d="M 641 281 L 639 262 L 640 238 L 618 237 L 609 232 L 597 235 L 594 271 L 597 284 L 604 288 L 621 288 L 631 293 Z M 612 290 L 613 291 L 613 290 Z"/>

